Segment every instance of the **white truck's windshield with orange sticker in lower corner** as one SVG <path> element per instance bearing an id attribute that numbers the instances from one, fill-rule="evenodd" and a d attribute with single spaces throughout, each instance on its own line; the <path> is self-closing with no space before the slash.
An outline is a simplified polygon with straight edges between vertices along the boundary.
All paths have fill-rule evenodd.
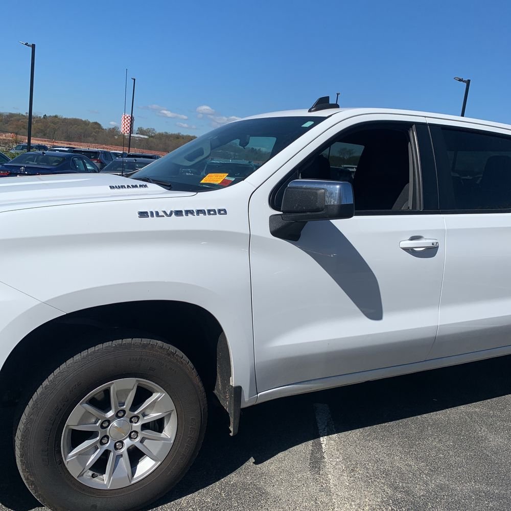
<path id="1" fill-rule="evenodd" d="M 226 124 L 131 175 L 173 190 L 205 192 L 243 181 L 324 117 L 272 117 Z"/>

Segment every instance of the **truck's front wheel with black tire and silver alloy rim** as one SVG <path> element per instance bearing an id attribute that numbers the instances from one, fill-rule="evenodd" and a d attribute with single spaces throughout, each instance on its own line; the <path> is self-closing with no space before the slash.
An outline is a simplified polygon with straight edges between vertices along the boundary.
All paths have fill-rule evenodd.
<path id="1" fill-rule="evenodd" d="M 206 417 L 199 376 L 175 347 L 105 342 L 67 360 L 36 390 L 17 428 L 16 462 L 50 509 L 135 510 L 187 472 Z"/>

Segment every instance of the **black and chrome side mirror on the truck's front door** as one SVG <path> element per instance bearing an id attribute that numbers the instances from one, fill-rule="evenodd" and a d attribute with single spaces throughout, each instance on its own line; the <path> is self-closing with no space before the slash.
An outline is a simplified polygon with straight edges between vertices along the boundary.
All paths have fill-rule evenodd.
<path id="1" fill-rule="evenodd" d="M 282 215 L 270 217 L 270 233 L 298 241 L 306 222 L 353 217 L 353 187 L 346 181 L 296 179 L 284 191 L 281 210 Z"/>

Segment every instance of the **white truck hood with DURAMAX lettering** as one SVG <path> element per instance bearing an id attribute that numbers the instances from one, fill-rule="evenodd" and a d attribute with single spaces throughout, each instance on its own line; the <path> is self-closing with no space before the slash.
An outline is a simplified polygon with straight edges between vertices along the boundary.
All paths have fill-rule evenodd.
<path id="1" fill-rule="evenodd" d="M 72 204 L 129 200 L 165 195 L 183 197 L 195 192 L 174 192 L 157 184 L 113 174 L 60 174 L 0 178 L 0 212 Z"/>

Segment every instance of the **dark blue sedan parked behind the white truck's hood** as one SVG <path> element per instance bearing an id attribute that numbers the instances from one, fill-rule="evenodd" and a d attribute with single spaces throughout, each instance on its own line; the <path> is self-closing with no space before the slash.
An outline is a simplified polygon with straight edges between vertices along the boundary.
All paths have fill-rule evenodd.
<path id="1" fill-rule="evenodd" d="M 99 170 L 85 156 L 53 151 L 31 151 L 20 154 L 0 166 L 0 177 L 74 174 L 76 172 L 99 172 Z"/>

